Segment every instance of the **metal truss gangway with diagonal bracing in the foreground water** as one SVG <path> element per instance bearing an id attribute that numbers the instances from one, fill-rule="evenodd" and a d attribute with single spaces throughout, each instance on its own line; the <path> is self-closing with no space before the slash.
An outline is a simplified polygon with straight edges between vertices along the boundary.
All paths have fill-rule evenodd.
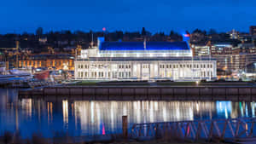
<path id="1" fill-rule="evenodd" d="M 137 140 L 255 141 L 256 118 L 134 124 L 131 137 Z"/>

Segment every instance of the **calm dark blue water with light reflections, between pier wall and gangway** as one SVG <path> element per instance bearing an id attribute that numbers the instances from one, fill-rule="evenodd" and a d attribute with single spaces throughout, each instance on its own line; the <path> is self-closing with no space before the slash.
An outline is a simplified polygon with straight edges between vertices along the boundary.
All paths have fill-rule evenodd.
<path id="1" fill-rule="evenodd" d="M 255 102 L 232 101 L 68 101 L 18 99 L 17 89 L 0 89 L 0 135 L 20 131 L 96 135 L 121 132 L 122 116 L 137 123 L 255 117 Z"/>

